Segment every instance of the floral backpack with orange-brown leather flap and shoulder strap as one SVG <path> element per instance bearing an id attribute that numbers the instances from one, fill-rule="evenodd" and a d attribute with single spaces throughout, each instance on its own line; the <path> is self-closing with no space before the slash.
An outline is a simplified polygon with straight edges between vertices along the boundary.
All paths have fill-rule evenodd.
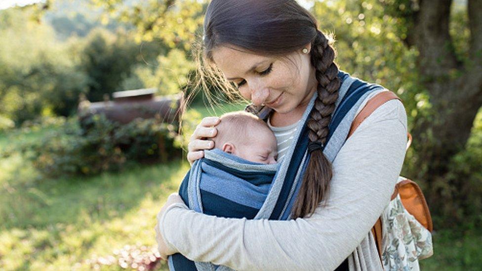
<path id="1" fill-rule="evenodd" d="M 393 99 L 402 101 L 391 91 L 371 98 L 352 122 L 348 137 L 373 111 Z M 407 136 L 408 149 L 412 137 L 409 133 Z M 400 176 L 390 202 L 371 229 L 383 268 L 419 270 L 418 260 L 433 254 L 432 231 L 432 218 L 422 190 L 415 182 Z"/>

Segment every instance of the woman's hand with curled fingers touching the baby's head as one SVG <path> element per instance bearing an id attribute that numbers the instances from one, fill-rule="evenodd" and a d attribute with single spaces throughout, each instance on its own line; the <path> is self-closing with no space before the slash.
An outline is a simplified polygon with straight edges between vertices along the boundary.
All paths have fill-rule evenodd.
<path id="1" fill-rule="evenodd" d="M 216 136 L 218 130 L 214 126 L 219 124 L 220 121 L 219 117 L 208 116 L 204 117 L 198 124 L 188 145 L 187 158 L 190 164 L 204 157 L 203 150 L 214 148 L 214 142 L 207 139 Z"/>

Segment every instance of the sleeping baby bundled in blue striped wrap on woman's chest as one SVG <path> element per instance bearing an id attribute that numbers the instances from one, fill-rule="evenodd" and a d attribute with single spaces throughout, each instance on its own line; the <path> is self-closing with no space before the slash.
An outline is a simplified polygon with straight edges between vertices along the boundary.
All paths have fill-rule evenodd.
<path id="1" fill-rule="evenodd" d="M 276 137 L 263 120 L 250 113 L 232 112 L 220 119 L 213 152 L 220 153 L 221 158 L 194 163 L 179 187 L 179 195 L 191 209 L 199 211 L 202 206 L 204 214 L 253 219 L 276 173 L 277 165 L 273 165 L 278 155 Z M 233 159 L 222 152 L 262 165 L 232 169 L 225 164 Z M 244 165 L 249 164 L 247 161 L 238 162 Z M 195 263 L 181 254 L 170 256 L 168 263 L 171 271 L 197 270 Z"/>

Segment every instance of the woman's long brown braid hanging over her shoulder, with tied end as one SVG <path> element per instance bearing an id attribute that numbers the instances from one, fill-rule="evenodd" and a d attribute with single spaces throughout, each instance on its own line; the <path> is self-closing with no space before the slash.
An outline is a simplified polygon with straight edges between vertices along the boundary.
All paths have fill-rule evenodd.
<path id="1" fill-rule="evenodd" d="M 329 182 L 333 175 L 332 166 L 324 156 L 322 148 L 312 146 L 317 144 L 324 146 L 326 143 L 329 133 L 328 125 L 338 99 L 340 78 L 338 77 L 338 67 L 333 62 L 334 58 L 335 51 L 330 46 L 328 39 L 323 33 L 317 31 L 317 36 L 312 42 L 311 64 L 316 70 L 318 97 L 307 122 L 309 149 L 312 150 L 310 150 L 311 157 L 303 183 L 293 205 L 292 218 L 313 214 L 319 203 L 328 195 Z"/>

